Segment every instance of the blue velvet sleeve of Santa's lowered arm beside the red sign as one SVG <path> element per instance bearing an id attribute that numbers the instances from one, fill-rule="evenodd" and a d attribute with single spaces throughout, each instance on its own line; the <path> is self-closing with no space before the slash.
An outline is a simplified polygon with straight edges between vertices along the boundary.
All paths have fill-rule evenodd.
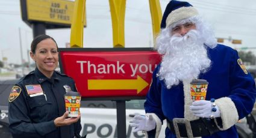
<path id="1" fill-rule="evenodd" d="M 159 68 L 160 68 L 160 65 L 158 65 L 158 67 L 155 68 L 152 74 L 152 82 L 149 88 L 149 92 L 146 95 L 146 101 L 145 101 L 144 107 L 145 107 L 146 113 L 155 113 L 155 115 L 157 115 L 158 118 L 163 123 L 163 120 L 165 119 L 165 117 L 163 115 L 163 111 L 161 107 L 161 83 L 157 77 Z"/>

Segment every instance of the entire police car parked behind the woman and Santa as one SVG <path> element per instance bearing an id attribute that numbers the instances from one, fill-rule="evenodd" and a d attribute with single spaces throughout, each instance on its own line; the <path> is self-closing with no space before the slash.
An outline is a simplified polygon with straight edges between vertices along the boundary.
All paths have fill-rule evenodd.
<path id="1" fill-rule="evenodd" d="M 17 80 L 0 81 L 0 137 L 11 137 L 8 130 L 8 97 L 12 86 Z M 143 103 L 145 100 L 126 101 L 126 137 L 145 137 L 141 131 L 133 132 L 129 121 L 134 115 L 145 115 Z M 81 102 L 81 136 L 89 137 L 117 137 L 117 119 L 115 101 L 82 101 Z M 254 108 L 256 109 L 256 107 Z M 253 110 L 252 115 L 256 115 Z M 236 124 L 240 138 L 256 137 L 256 123 L 254 116 L 248 115 Z M 256 117 L 256 116 L 255 116 Z M 164 137 L 164 121 L 159 137 Z"/>

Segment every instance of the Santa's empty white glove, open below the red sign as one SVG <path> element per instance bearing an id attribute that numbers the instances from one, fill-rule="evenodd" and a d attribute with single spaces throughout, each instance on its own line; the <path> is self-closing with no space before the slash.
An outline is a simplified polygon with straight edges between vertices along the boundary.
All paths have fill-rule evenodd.
<path id="1" fill-rule="evenodd" d="M 155 129 L 155 119 L 152 115 L 143 116 L 136 115 L 133 120 L 130 121 L 131 127 L 135 127 L 133 132 L 137 131 L 151 131 Z"/>

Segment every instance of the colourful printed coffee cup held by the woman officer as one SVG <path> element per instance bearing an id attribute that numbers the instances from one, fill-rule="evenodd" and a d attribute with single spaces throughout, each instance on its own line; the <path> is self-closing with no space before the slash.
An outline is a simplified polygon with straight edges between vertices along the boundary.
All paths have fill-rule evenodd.
<path id="1" fill-rule="evenodd" d="M 68 91 L 65 94 L 66 111 L 69 117 L 77 117 L 80 115 L 81 95 L 78 92 Z"/>

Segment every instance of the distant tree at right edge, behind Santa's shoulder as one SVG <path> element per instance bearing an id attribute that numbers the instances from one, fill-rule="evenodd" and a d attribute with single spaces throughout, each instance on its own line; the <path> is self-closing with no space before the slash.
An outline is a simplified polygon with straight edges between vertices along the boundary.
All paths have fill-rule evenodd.
<path id="1" fill-rule="evenodd" d="M 249 62 L 251 65 L 255 65 L 256 56 L 251 51 L 249 52 L 239 51 L 238 54 L 243 62 Z"/>

